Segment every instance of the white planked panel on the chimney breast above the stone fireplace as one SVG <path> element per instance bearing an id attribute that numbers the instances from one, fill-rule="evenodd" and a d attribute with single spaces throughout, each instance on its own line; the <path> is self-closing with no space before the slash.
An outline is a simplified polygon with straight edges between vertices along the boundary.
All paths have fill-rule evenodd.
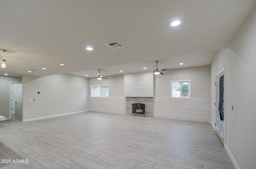
<path id="1" fill-rule="evenodd" d="M 124 96 L 154 97 L 153 72 L 124 75 Z"/>

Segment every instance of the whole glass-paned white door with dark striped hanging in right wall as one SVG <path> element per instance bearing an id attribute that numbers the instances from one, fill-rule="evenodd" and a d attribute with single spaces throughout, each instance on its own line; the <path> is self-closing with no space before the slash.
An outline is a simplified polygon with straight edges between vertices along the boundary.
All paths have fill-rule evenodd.
<path id="1" fill-rule="evenodd" d="M 215 131 L 225 145 L 225 70 L 215 76 Z"/>

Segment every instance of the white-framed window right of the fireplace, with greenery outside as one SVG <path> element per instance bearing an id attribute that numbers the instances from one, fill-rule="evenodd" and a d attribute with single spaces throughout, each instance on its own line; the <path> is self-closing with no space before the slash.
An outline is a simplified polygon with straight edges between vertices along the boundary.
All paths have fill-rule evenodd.
<path id="1" fill-rule="evenodd" d="M 171 81 L 172 97 L 190 97 L 190 80 Z"/>

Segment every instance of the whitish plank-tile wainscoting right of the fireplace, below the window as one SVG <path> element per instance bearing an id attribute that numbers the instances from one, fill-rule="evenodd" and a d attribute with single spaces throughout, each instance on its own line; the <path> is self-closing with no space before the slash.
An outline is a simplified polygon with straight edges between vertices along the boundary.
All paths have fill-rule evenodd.
<path id="1" fill-rule="evenodd" d="M 209 98 L 154 97 L 154 117 L 210 122 Z"/>

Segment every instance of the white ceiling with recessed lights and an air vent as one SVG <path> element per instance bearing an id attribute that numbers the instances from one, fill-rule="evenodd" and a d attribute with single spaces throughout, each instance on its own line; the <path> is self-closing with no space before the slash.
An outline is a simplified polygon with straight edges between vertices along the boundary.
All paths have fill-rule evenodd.
<path id="1" fill-rule="evenodd" d="M 0 75 L 90 78 L 98 69 L 102 76 L 153 71 L 156 60 L 159 69 L 210 65 L 255 6 L 256 0 L 0 0 L 0 49 L 8 50 Z M 176 19 L 182 24 L 169 27 Z M 114 40 L 124 47 L 104 45 Z"/>

